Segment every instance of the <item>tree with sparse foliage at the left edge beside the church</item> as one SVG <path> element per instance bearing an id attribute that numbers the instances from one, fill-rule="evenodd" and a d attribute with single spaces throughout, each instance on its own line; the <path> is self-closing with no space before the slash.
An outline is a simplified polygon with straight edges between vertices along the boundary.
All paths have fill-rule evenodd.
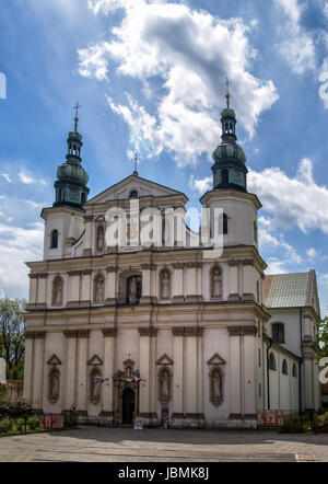
<path id="1" fill-rule="evenodd" d="M 5 359 L 8 380 L 24 377 L 25 309 L 25 299 L 0 299 L 0 357 Z"/>

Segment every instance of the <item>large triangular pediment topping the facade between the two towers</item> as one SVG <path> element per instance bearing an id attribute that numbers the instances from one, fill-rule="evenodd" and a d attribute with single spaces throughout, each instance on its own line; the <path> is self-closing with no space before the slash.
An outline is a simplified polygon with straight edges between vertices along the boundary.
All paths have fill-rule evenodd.
<path id="1" fill-rule="evenodd" d="M 118 182 L 117 184 L 110 186 L 101 194 L 91 198 L 85 205 L 87 206 L 92 204 L 105 204 L 110 200 L 129 199 L 131 192 L 137 192 L 139 197 L 183 195 L 185 196 L 187 201 L 186 195 L 184 195 L 181 192 L 177 192 L 159 183 L 141 178 L 137 175 L 130 175 L 121 182 Z"/>

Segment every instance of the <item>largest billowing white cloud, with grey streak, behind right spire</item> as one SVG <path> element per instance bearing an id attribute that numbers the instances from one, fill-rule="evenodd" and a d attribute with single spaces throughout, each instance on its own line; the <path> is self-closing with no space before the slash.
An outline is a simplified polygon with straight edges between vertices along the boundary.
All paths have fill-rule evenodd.
<path id="1" fill-rule="evenodd" d="M 254 22 L 223 21 L 181 3 L 161 1 L 90 0 L 89 7 L 94 13 L 124 8 L 125 18 L 108 42 L 79 50 L 80 73 L 108 80 L 114 74 L 108 62 L 115 61 L 116 74 L 139 80 L 148 99 L 153 79 L 162 82 L 161 92 L 152 96 L 151 113 L 131 96 L 124 105 L 109 101 L 132 131 L 137 123 L 137 138 L 144 138 L 141 148 L 149 157 L 166 150 L 179 164 L 192 164 L 200 154 L 210 155 L 220 140 L 218 108 L 224 105 L 226 76 L 238 120 L 249 136 L 260 114 L 278 99 L 271 81 L 250 73 L 256 57 L 249 42 Z M 136 130 L 131 143 L 134 140 Z"/>

